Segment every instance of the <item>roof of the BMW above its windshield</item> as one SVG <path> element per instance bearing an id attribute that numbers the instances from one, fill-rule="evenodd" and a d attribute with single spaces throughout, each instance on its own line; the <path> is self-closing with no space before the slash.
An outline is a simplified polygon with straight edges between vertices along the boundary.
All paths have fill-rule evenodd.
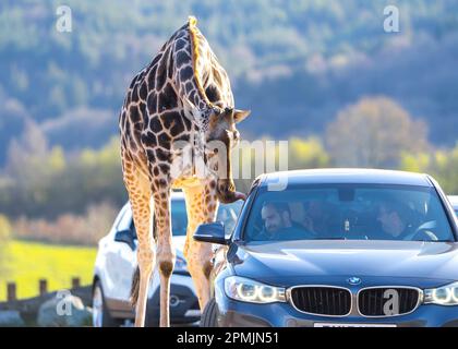
<path id="1" fill-rule="evenodd" d="M 273 172 L 263 174 L 261 185 L 281 182 L 288 184 L 366 183 L 433 185 L 425 173 L 365 168 L 329 168 Z"/>

